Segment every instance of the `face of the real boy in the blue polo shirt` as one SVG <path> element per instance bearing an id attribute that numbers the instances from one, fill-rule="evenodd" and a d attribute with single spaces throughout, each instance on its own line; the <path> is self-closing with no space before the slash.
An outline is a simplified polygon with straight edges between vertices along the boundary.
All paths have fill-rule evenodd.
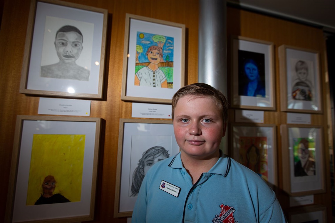
<path id="1" fill-rule="evenodd" d="M 207 159 L 218 155 L 226 124 L 213 99 L 185 95 L 175 107 L 173 127 L 182 155 Z"/>

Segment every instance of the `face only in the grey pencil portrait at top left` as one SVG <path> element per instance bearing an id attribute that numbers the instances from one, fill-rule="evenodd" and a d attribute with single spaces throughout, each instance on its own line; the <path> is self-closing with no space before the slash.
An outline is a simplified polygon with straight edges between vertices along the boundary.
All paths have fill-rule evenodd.
<path id="1" fill-rule="evenodd" d="M 83 49 L 82 41 L 82 36 L 77 32 L 59 32 L 55 41 L 59 59 L 65 63 L 76 61 Z"/>

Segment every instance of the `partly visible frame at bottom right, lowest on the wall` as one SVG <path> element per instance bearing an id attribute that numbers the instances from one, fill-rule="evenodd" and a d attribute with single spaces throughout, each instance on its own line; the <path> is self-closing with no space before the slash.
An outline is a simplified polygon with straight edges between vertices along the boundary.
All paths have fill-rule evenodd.
<path id="1" fill-rule="evenodd" d="M 288 222 L 290 223 L 323 223 L 327 221 L 327 209 L 323 205 L 305 206 L 288 212 Z"/>

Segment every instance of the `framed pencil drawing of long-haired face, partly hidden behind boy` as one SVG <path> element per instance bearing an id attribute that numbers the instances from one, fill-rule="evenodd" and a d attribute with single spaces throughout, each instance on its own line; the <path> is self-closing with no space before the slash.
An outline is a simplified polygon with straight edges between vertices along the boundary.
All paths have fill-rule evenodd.
<path id="1" fill-rule="evenodd" d="M 172 121 L 120 119 L 114 217 L 132 215 L 145 173 L 177 153 Z"/>

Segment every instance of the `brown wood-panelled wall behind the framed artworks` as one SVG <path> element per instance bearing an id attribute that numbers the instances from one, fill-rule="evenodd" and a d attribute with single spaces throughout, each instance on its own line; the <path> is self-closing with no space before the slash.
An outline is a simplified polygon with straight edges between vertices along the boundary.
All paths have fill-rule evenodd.
<path id="1" fill-rule="evenodd" d="M 123 44 L 125 13 L 137 14 L 186 25 L 185 84 L 198 79 L 198 0 L 66 0 L 69 2 L 108 9 L 107 52 L 105 64 L 105 83 L 103 100 L 91 101 L 91 117 L 105 120 L 100 149 L 98 184 L 96 196 L 95 220 L 93 222 L 126 222 L 126 218 L 113 218 L 114 192 L 116 177 L 116 157 L 118 145 L 119 119 L 131 118 L 131 103 L 123 102 L 121 97 L 121 79 L 123 63 Z M 4 219 L 8 190 L 9 167 L 12 152 L 14 126 L 17 115 L 38 115 L 38 96 L 19 94 L 25 31 L 29 10 L 29 0 L 4 0 L 4 11 L 0 30 L 0 222 Z M 277 49 L 282 44 L 324 51 L 322 30 L 272 18 L 235 8 L 227 8 L 227 34 L 242 35 L 250 38 L 270 41 L 275 44 L 276 107 L 275 111 L 265 111 L 265 123 L 277 125 L 278 175 L 279 188 L 274 188 L 285 212 L 288 208 L 288 196 L 281 188 L 281 143 L 280 124 L 286 122 L 286 113 L 279 111 L 279 62 Z M 321 54 L 321 65 L 324 54 Z M 230 58 L 228 57 L 228 60 Z M 229 61 L 228 61 L 229 64 Z M 321 66 L 324 69 L 324 66 Z M 229 67 L 228 67 L 229 68 Z M 325 71 L 322 70 L 322 74 Z M 229 75 L 229 69 L 228 69 Z M 323 79 L 324 80 L 324 79 Z M 229 86 L 229 85 L 228 85 Z M 324 88 L 323 88 L 324 89 Z M 325 101 L 325 100 L 324 100 Z M 324 105 L 325 108 L 325 105 Z M 312 124 L 326 127 L 327 117 L 312 115 Z M 234 110 L 229 110 L 234 115 Z M 229 122 L 233 122 L 229 118 Z M 325 128 L 326 131 L 327 128 Z M 325 132 L 326 133 L 326 132 Z M 325 142 L 327 134 L 325 134 Z M 326 205 L 328 217 L 331 217 L 331 195 L 329 178 L 329 154 L 326 150 L 327 193 L 315 195 L 315 203 Z"/>

